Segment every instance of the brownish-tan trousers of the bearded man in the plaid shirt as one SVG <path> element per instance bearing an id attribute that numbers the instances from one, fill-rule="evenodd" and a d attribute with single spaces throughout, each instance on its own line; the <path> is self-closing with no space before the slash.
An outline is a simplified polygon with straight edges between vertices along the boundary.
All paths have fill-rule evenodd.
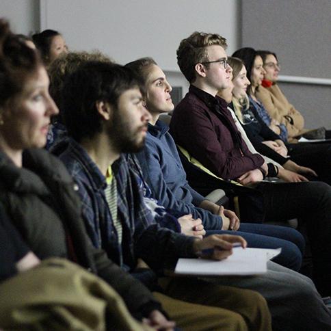
<path id="1" fill-rule="evenodd" d="M 195 309 L 170 307 L 161 301 L 170 317 L 184 330 L 272 330 L 271 316 L 264 297 L 255 291 L 226 287 L 196 278 L 161 278 L 166 295 L 191 302 Z"/>

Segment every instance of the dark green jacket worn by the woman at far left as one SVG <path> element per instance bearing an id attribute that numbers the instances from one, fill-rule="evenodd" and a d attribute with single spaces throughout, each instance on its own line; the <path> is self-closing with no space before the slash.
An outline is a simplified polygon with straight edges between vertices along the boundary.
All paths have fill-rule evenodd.
<path id="1" fill-rule="evenodd" d="M 45 150 L 25 150 L 23 168 L 18 168 L 0 153 L 0 200 L 40 259 L 68 254 L 67 229 L 77 262 L 107 281 L 135 317 L 161 308 L 144 285 L 92 246 L 81 220 L 75 184 L 59 159 Z"/>

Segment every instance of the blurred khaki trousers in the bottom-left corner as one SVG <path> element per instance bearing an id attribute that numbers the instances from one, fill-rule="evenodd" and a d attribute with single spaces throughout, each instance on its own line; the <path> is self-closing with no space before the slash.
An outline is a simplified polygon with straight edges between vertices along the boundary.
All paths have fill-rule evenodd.
<path id="1" fill-rule="evenodd" d="M 0 328 L 5 330 L 152 330 L 131 317 L 122 298 L 90 272 L 63 259 L 0 284 Z"/>

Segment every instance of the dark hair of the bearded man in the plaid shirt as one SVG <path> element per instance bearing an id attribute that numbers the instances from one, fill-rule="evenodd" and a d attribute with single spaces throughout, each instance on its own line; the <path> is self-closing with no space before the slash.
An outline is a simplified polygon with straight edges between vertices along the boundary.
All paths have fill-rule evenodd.
<path id="1" fill-rule="evenodd" d="M 119 64 L 89 61 L 72 73 L 64 82 L 62 117 L 68 134 L 77 142 L 94 137 L 102 130 L 102 118 L 96 102 L 118 106 L 118 98 L 131 88 L 144 94 L 144 83 L 133 70 Z"/>

